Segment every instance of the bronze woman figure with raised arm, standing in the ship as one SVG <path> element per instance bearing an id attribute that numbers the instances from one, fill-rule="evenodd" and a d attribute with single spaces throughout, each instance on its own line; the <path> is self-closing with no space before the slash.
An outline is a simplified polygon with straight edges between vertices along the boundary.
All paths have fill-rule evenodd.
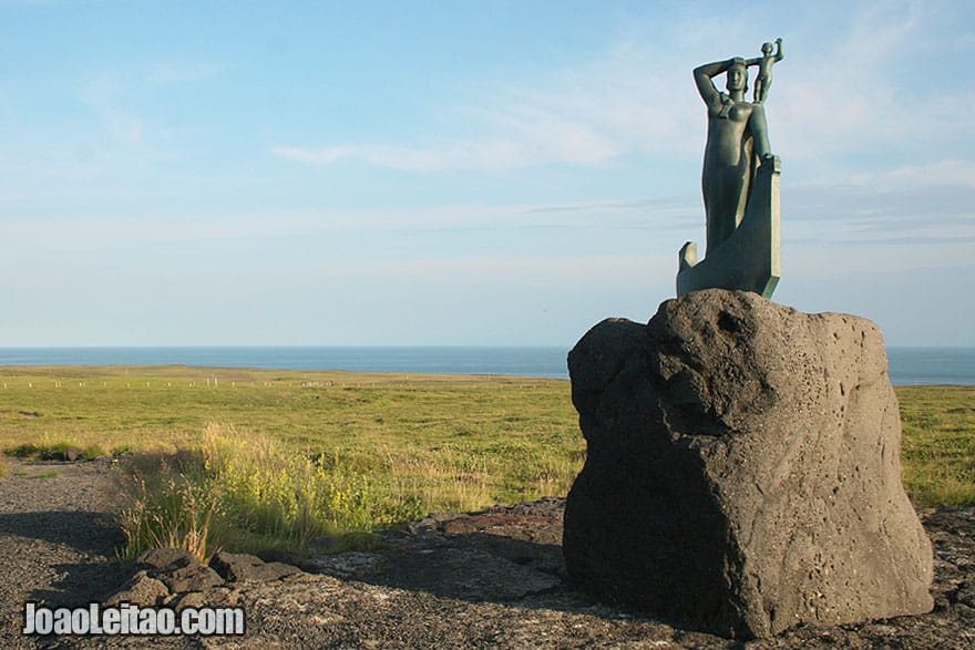
<path id="1" fill-rule="evenodd" d="M 726 90 L 712 79 L 727 73 Z M 694 80 L 708 106 L 708 144 L 705 147 L 701 189 L 708 221 L 707 255 L 721 245 L 745 216 L 756 161 L 771 159 L 764 107 L 745 100 L 748 65 L 745 59 L 707 63 Z"/>

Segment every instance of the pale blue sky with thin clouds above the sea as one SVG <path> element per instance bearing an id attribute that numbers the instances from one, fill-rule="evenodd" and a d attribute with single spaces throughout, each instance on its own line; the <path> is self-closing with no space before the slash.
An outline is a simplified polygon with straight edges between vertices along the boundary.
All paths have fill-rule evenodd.
<path id="1" fill-rule="evenodd" d="M 781 37 L 774 300 L 975 345 L 965 2 L 0 0 L 2 345 L 553 344 L 702 245 Z"/>

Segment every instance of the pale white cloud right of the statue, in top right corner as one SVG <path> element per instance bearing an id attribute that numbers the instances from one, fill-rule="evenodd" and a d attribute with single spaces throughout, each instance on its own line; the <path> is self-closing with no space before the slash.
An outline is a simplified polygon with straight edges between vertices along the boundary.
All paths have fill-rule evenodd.
<path id="1" fill-rule="evenodd" d="M 962 151 L 958 144 L 975 136 L 964 117 L 975 93 L 963 83 L 941 84 L 933 93 L 907 76 L 925 62 L 945 68 L 946 54 L 932 52 L 928 43 L 938 20 L 944 18 L 936 6 L 881 2 L 851 12 L 849 30 L 839 30 L 840 38 L 814 55 L 804 34 L 805 52 L 790 56 L 787 50 L 782 83 L 772 89 L 773 148 L 832 166 L 837 177 L 849 173 L 848 156 L 873 154 L 870 165 L 882 168 Z M 940 74 L 944 70 L 925 73 Z"/>

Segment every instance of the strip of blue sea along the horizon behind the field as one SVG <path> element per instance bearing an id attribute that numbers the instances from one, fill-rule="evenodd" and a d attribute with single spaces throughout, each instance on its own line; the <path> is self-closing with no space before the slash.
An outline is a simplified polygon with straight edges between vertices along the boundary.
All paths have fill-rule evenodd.
<path id="1" fill-rule="evenodd" d="M 0 367 L 183 364 L 568 379 L 567 354 L 557 345 L 0 348 Z M 975 385 L 975 348 L 887 348 L 887 358 L 895 385 Z"/>

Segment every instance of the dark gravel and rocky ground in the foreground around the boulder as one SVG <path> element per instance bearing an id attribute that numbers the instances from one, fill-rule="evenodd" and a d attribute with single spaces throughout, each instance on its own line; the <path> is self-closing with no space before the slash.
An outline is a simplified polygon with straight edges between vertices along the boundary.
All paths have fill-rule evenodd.
<path id="1" fill-rule="evenodd" d="M 563 499 L 473 516 L 441 513 L 392 536 L 384 551 L 371 554 L 374 561 L 367 561 L 370 554 L 294 557 L 308 572 L 193 595 L 199 603 L 244 607 L 243 638 L 22 637 L 27 600 L 102 601 L 134 568 L 114 561 L 123 538 L 110 514 L 110 462 L 10 464 L 0 479 L 2 648 L 975 649 L 975 508 L 922 514 L 935 547 L 933 612 L 741 642 L 679 630 L 566 588 Z"/>

